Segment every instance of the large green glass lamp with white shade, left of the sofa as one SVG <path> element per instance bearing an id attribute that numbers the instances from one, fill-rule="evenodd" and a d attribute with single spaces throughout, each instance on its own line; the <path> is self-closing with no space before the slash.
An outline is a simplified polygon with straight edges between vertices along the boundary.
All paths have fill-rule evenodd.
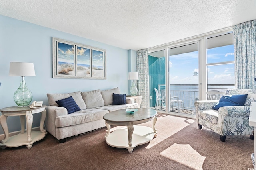
<path id="1" fill-rule="evenodd" d="M 30 104 L 33 96 L 32 92 L 26 86 L 25 76 L 36 76 L 34 64 L 24 62 L 10 62 L 9 76 L 21 76 L 20 86 L 14 92 L 13 99 L 18 107 L 26 107 Z"/>

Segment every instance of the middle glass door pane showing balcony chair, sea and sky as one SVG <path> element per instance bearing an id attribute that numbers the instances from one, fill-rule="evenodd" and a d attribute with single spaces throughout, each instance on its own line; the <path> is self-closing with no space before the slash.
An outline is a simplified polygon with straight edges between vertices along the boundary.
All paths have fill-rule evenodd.
<path id="1" fill-rule="evenodd" d="M 169 111 L 194 115 L 198 100 L 198 42 L 172 47 L 169 55 Z"/>

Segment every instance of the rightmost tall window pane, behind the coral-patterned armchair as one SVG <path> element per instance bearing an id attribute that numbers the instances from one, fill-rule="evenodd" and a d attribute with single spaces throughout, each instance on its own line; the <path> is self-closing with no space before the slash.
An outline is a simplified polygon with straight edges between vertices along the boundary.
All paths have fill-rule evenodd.
<path id="1" fill-rule="evenodd" d="M 233 33 L 207 38 L 207 96 L 234 88 Z"/>

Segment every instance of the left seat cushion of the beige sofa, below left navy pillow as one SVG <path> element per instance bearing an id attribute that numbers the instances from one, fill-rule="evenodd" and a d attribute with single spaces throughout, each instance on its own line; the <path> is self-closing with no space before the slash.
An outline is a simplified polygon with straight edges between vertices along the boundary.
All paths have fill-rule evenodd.
<path id="1" fill-rule="evenodd" d="M 102 109 L 86 109 L 76 111 L 69 115 L 62 115 L 55 118 L 55 127 L 66 127 L 71 125 L 78 125 L 91 121 L 100 120 L 108 113 L 107 110 Z"/>

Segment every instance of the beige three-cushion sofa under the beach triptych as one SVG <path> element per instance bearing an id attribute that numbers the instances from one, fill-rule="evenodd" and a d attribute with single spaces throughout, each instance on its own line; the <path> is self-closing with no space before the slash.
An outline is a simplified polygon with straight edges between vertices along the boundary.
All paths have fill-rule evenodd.
<path id="1" fill-rule="evenodd" d="M 120 94 L 119 88 L 108 90 L 92 90 L 88 92 L 73 92 L 66 94 L 47 94 L 49 106 L 46 107 L 46 131 L 56 137 L 60 143 L 66 138 L 92 131 L 106 126 L 103 116 L 111 111 L 138 108 L 134 99 L 126 97 L 126 104 L 113 104 L 113 93 Z M 79 111 L 68 114 L 65 107 L 60 107 L 55 101 L 72 96 Z M 115 100 L 115 98 L 114 98 Z M 114 101 L 115 102 L 115 101 Z"/>

